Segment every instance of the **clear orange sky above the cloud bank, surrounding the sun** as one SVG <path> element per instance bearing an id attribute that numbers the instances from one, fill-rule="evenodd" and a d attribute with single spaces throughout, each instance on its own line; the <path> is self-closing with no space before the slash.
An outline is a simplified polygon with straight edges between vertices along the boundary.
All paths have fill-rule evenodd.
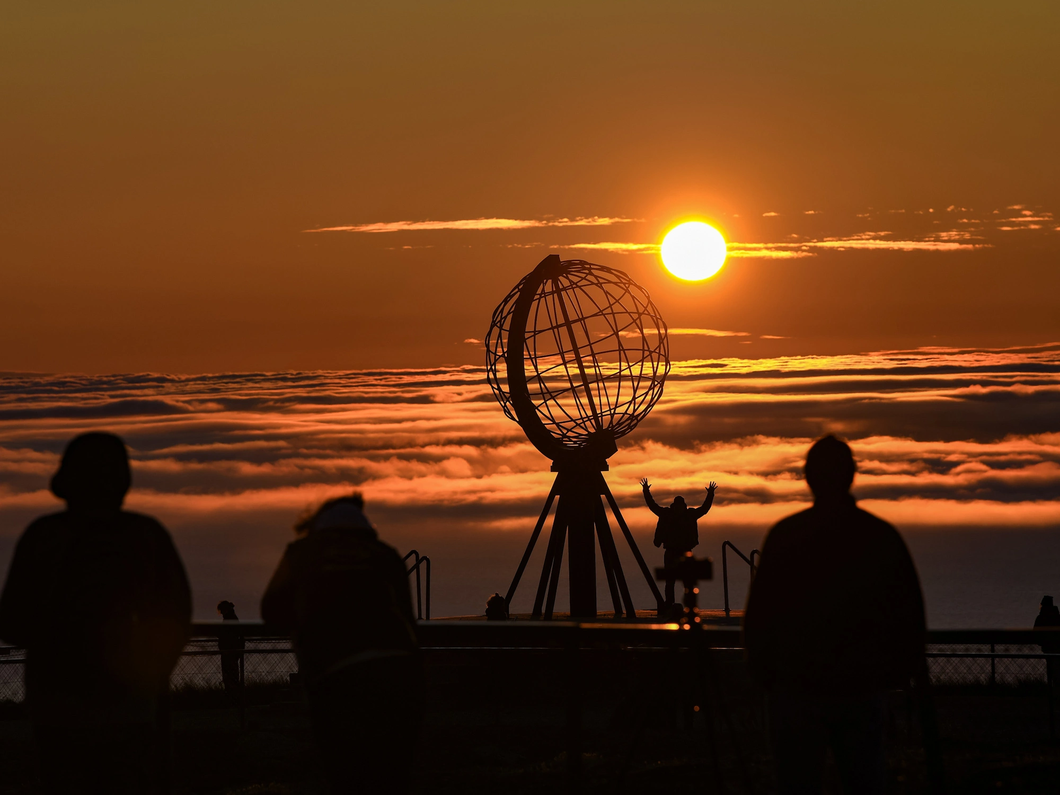
<path id="1" fill-rule="evenodd" d="M 3 11 L 0 370 L 480 364 L 553 246 L 675 358 L 1060 338 L 1055 3 L 497 6 Z M 690 215 L 758 255 L 578 248 Z M 478 218 L 618 220 L 305 231 Z"/>

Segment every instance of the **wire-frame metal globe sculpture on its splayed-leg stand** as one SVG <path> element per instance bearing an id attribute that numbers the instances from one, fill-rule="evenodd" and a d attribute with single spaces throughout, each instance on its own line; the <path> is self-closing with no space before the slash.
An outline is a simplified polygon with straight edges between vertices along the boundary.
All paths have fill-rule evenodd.
<path id="1" fill-rule="evenodd" d="M 616 617 L 636 615 L 606 500 L 660 606 L 658 587 L 602 474 L 617 440 L 662 395 L 670 371 L 666 323 L 647 290 L 621 270 L 547 257 L 493 313 L 485 350 L 497 402 L 556 473 L 506 602 L 554 504 L 533 616 L 552 617 L 566 546 L 570 615 L 596 618 L 597 540 Z"/>

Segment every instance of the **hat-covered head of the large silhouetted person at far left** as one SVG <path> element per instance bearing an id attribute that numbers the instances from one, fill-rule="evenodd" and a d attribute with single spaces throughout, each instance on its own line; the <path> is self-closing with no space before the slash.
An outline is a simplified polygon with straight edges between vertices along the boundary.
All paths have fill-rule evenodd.
<path id="1" fill-rule="evenodd" d="M 125 443 L 113 434 L 82 434 L 67 445 L 52 494 L 70 508 L 117 511 L 132 476 Z"/>

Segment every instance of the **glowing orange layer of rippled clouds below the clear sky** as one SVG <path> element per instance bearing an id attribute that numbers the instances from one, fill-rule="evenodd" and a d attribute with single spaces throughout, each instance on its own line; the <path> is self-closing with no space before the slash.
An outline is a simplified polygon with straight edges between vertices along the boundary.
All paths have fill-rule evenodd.
<path id="1" fill-rule="evenodd" d="M 853 444 L 863 504 L 906 529 L 1055 528 L 1057 417 L 1060 344 L 679 361 L 607 478 L 642 541 L 654 526 L 642 476 L 660 499 L 717 480 L 711 528 L 760 537 L 807 505 L 802 457 L 831 431 Z M 13 374 L 0 419 L 0 565 L 25 522 L 56 507 L 47 483 L 64 444 L 105 428 L 132 450 L 129 506 L 174 529 L 208 600 L 255 600 L 296 516 L 354 489 L 399 546 L 474 565 L 493 550 L 507 570 L 552 478 L 477 367 Z"/>

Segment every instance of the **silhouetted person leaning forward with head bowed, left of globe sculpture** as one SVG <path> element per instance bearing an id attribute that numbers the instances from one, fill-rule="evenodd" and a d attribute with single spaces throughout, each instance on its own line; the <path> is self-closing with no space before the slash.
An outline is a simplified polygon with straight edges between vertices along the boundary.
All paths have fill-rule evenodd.
<path id="1" fill-rule="evenodd" d="M 422 664 L 408 576 L 360 495 L 324 502 L 296 531 L 262 599 L 293 636 L 314 734 L 336 793 L 405 792 Z"/>

